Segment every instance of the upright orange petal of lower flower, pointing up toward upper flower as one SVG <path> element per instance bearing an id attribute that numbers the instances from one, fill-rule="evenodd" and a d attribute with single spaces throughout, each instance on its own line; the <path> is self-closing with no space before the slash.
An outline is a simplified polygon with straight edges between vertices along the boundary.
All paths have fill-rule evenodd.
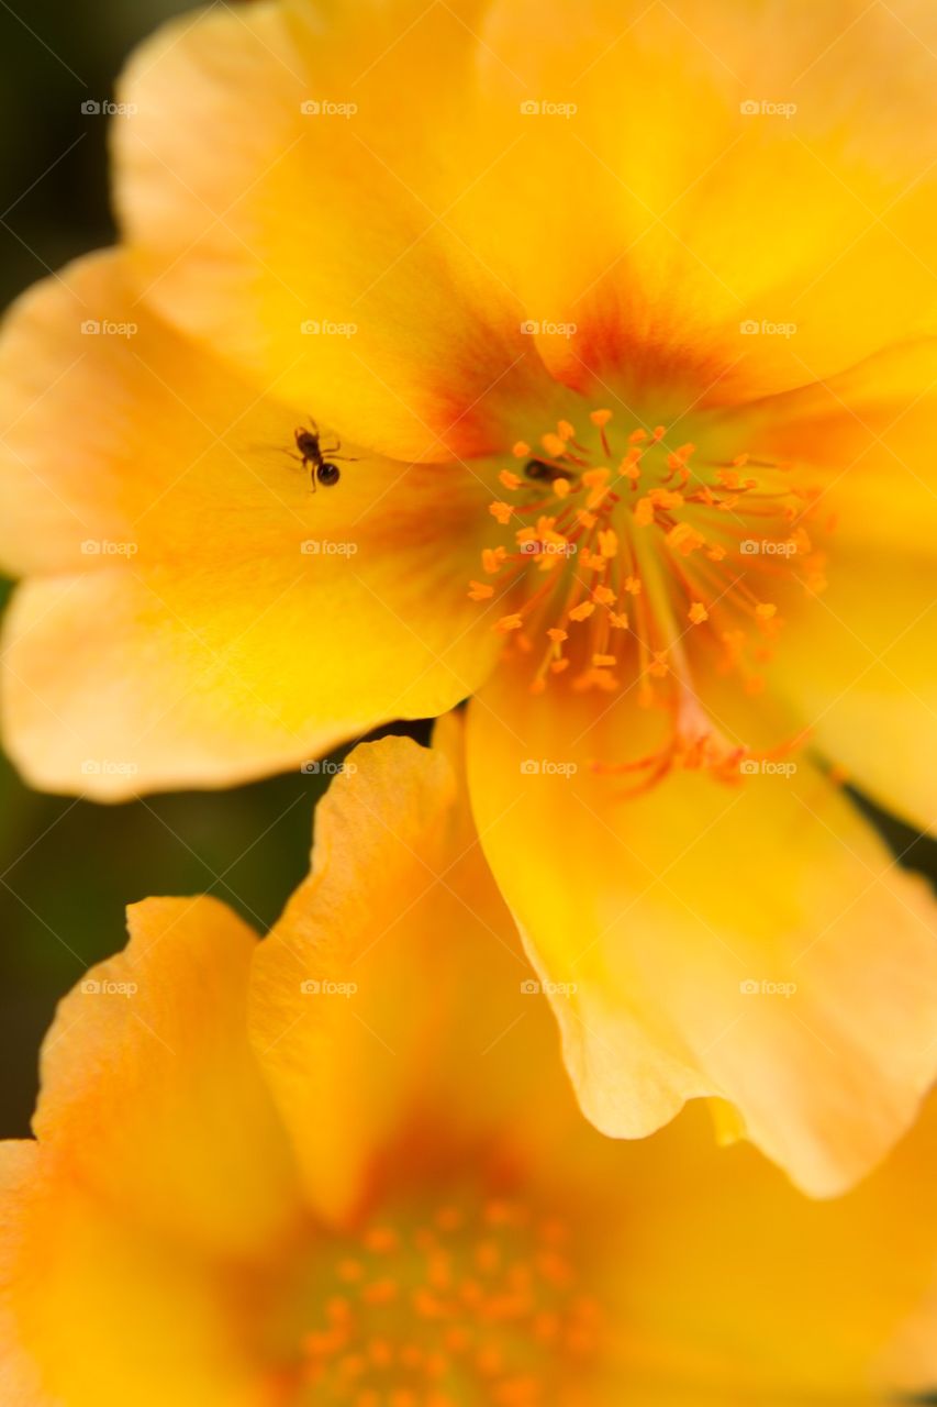
<path id="1" fill-rule="evenodd" d="M 528 1088 L 491 1054 L 525 1014 L 529 968 L 446 753 L 388 737 L 350 754 L 311 875 L 257 951 L 255 1045 L 328 1218 L 360 1207 L 388 1148 L 423 1176 Z M 418 1116 L 432 1145 L 408 1152 Z"/>

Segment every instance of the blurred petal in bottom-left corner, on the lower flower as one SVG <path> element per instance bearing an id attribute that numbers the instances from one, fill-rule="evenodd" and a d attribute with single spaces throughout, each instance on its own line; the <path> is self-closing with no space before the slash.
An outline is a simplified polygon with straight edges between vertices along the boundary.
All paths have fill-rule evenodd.
<path id="1" fill-rule="evenodd" d="M 122 1217 L 35 1145 L 0 1144 L 0 1186 L 4 1407 L 270 1401 L 252 1382 L 249 1335 L 232 1334 L 217 1266 L 191 1245 Z"/>

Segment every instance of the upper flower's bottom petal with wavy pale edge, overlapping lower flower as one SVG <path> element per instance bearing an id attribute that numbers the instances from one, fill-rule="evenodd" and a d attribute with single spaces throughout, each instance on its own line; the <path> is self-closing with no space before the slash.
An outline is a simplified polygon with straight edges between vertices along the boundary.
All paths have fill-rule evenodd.
<path id="1" fill-rule="evenodd" d="M 923 881 L 803 754 L 793 775 L 680 772 L 623 799 L 589 763 L 640 754 L 644 715 L 574 698 L 498 675 L 470 708 L 468 782 L 535 965 L 578 983 L 557 1016 L 587 1116 L 642 1137 L 718 1095 L 798 1186 L 841 1192 L 937 1068 Z"/>

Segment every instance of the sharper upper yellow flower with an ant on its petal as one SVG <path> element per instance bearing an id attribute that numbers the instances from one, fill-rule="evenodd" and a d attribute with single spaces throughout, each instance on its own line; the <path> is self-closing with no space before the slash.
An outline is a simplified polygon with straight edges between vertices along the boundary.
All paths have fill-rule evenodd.
<path id="1" fill-rule="evenodd" d="M 0 357 L 27 775 L 224 785 L 474 695 L 588 1116 L 716 1095 L 809 1192 L 868 1172 L 937 1065 L 930 899 L 837 785 L 930 819 L 934 52 L 917 0 L 160 31 L 122 245 Z"/>

